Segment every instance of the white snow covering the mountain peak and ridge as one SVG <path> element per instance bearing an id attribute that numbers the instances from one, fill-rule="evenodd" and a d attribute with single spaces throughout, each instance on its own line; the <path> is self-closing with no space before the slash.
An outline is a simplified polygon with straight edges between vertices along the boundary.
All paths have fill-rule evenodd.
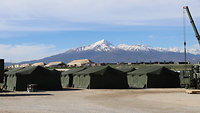
<path id="1" fill-rule="evenodd" d="M 183 49 L 178 48 L 161 48 L 161 47 L 151 47 L 144 44 L 136 44 L 136 45 L 126 45 L 120 44 L 117 46 L 112 45 L 110 42 L 105 39 L 100 40 L 91 45 L 85 45 L 78 48 L 73 48 L 71 50 L 74 51 L 86 51 L 86 50 L 94 50 L 94 51 L 113 51 L 113 50 L 125 50 L 125 51 L 159 51 L 159 52 L 176 52 L 176 53 L 184 53 Z M 187 49 L 187 53 L 200 55 L 200 50 L 198 49 Z"/>

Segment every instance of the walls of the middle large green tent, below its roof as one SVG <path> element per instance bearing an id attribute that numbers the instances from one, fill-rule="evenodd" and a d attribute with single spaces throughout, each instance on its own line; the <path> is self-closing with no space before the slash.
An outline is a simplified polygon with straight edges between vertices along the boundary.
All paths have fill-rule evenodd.
<path id="1" fill-rule="evenodd" d="M 74 88 L 128 88 L 126 75 L 79 74 L 73 78 Z"/>

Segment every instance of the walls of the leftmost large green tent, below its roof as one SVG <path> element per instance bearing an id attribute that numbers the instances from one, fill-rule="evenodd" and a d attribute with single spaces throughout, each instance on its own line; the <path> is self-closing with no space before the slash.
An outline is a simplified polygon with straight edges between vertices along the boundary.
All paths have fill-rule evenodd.
<path id="1" fill-rule="evenodd" d="M 38 90 L 62 89 L 60 76 L 57 74 L 10 74 L 7 76 L 6 89 L 11 91 L 26 91 L 28 84 L 37 84 Z"/>

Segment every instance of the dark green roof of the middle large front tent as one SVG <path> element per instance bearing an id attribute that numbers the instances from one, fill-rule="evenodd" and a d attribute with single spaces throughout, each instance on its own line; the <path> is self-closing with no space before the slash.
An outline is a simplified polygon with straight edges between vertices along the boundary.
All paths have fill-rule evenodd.
<path id="1" fill-rule="evenodd" d="M 110 66 L 97 66 L 97 67 L 89 67 L 83 71 L 80 71 L 76 74 L 99 74 L 99 75 L 103 75 L 106 72 L 113 72 L 113 73 L 125 73 L 123 71 L 111 68 Z"/>

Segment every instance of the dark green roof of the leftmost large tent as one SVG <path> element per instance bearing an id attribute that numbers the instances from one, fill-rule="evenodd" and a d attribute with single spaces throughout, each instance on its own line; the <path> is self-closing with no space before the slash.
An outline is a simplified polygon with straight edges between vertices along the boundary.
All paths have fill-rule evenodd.
<path id="1" fill-rule="evenodd" d="M 21 74 L 21 75 L 27 75 L 27 74 L 33 74 L 33 73 L 51 73 L 51 71 L 41 66 L 30 66 L 30 67 L 21 69 L 19 71 L 16 71 L 15 73 Z"/>

